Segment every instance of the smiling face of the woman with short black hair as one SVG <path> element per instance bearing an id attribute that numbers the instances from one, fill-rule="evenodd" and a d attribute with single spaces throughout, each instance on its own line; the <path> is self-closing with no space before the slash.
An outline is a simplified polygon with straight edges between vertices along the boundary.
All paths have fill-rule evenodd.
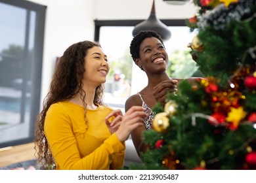
<path id="1" fill-rule="evenodd" d="M 163 73 L 168 66 L 168 55 L 165 47 L 156 37 L 147 37 L 140 44 L 137 65 L 143 67 L 146 73 Z"/>

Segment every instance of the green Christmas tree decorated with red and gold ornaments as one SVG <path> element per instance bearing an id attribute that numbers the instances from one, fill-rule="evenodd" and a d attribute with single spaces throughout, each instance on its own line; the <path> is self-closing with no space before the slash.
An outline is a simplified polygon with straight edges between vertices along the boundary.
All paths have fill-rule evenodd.
<path id="1" fill-rule="evenodd" d="M 256 169 L 256 0 L 194 0 L 187 20 L 205 80 L 154 107 L 151 148 L 131 169 Z"/>

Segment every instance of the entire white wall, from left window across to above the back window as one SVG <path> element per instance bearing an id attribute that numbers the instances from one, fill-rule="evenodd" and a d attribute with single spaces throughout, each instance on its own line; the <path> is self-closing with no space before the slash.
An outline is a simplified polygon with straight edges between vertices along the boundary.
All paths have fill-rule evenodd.
<path id="1" fill-rule="evenodd" d="M 48 92 L 56 57 L 71 44 L 94 39 L 94 20 L 136 20 L 150 15 L 153 0 L 27 0 L 45 5 L 45 42 L 41 102 Z M 190 18 L 196 12 L 192 3 L 168 5 L 155 1 L 160 19 Z"/>

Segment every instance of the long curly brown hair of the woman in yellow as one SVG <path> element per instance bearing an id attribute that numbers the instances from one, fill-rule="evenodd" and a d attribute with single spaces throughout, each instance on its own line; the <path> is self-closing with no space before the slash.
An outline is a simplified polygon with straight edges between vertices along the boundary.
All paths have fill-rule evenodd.
<path id="1" fill-rule="evenodd" d="M 86 93 L 83 90 L 82 82 L 86 69 L 84 64 L 85 56 L 87 50 L 95 46 L 101 47 L 98 42 L 91 41 L 81 41 L 72 44 L 66 49 L 56 64 L 49 92 L 43 101 L 43 110 L 37 115 L 37 121 L 35 122 L 35 150 L 37 150 L 37 163 L 41 166 L 41 169 L 55 169 L 54 159 L 44 133 L 47 110 L 53 103 L 72 99 L 77 94 L 80 95 L 82 101 L 85 101 Z M 103 84 L 96 88 L 93 101 L 95 105 L 103 105 L 103 90 Z M 87 104 L 83 102 L 85 123 L 87 123 L 86 106 Z"/>

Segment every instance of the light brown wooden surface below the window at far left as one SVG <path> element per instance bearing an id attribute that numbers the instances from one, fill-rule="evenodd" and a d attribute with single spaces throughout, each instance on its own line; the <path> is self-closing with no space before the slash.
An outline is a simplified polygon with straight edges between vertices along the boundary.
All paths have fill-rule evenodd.
<path id="1" fill-rule="evenodd" d="M 0 167 L 35 159 L 34 143 L 0 148 Z"/>

